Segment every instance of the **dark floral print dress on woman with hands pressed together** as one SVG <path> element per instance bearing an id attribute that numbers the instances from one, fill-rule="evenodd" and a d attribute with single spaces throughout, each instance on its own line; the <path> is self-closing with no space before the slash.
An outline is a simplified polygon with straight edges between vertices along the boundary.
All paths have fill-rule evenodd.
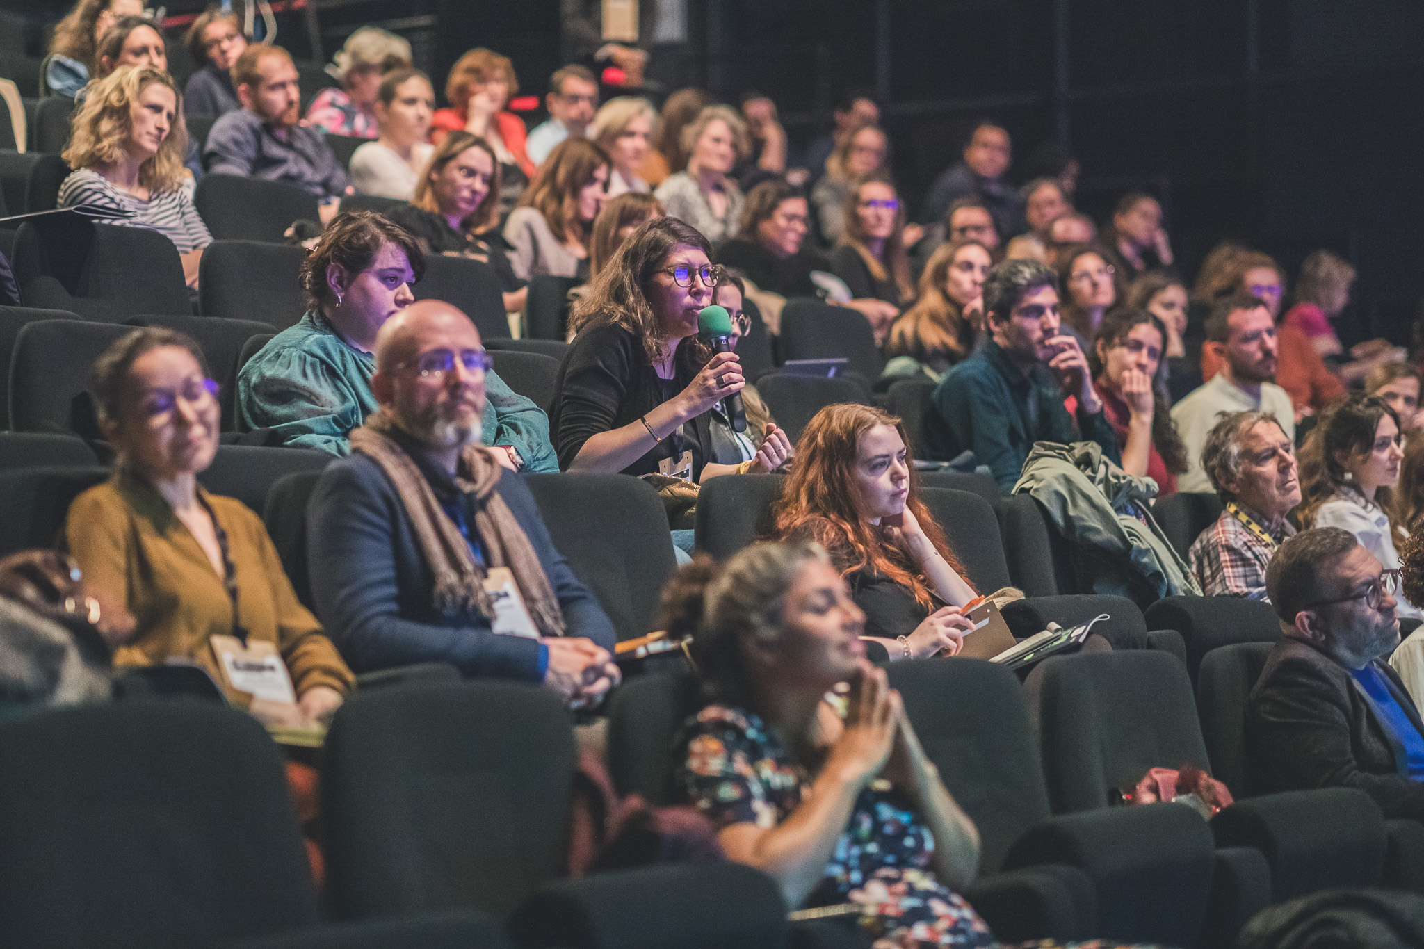
<path id="1" fill-rule="evenodd" d="M 753 713 L 708 706 L 684 727 L 686 748 L 675 781 L 713 824 L 772 828 L 790 817 L 810 790 L 806 774 Z M 936 879 L 934 838 L 889 784 L 856 798 L 826 875 L 805 906 L 859 903 L 867 935 L 900 931 L 930 946 L 993 946 L 988 925 L 961 896 Z"/>

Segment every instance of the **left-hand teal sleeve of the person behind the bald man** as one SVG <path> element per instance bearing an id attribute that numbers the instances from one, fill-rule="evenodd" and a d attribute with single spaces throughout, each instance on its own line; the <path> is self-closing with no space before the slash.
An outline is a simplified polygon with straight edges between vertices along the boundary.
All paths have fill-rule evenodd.
<path id="1" fill-rule="evenodd" d="M 263 349 L 238 376 L 242 428 L 271 428 L 279 444 L 350 454 L 350 431 L 376 411 L 356 366 L 336 367 L 303 349 Z"/>

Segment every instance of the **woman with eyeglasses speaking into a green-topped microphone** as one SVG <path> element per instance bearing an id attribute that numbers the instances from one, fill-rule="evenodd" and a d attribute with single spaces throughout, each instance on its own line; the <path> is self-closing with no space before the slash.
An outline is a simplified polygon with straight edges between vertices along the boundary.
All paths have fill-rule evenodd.
<path id="1" fill-rule="evenodd" d="M 736 353 L 713 353 L 698 339 L 698 314 L 721 280 L 711 253 L 691 225 L 655 218 L 628 238 L 574 304 L 574 341 L 550 410 L 564 471 L 702 482 L 770 471 L 785 461 L 785 435 L 768 438 L 750 461 L 716 461 L 713 415 L 746 380 Z"/>

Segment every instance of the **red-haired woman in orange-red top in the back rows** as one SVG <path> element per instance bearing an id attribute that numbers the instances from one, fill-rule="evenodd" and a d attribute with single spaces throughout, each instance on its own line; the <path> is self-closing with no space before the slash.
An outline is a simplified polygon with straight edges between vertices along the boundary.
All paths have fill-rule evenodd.
<path id="1" fill-rule="evenodd" d="M 430 124 L 430 141 L 436 145 L 460 129 L 490 142 L 503 165 L 500 181 L 514 196 L 534 176 L 534 162 L 525 151 L 524 120 L 504 108 L 518 91 L 520 81 L 508 57 L 486 48 L 470 50 L 450 67 L 446 81 L 450 107 L 439 110 Z"/>

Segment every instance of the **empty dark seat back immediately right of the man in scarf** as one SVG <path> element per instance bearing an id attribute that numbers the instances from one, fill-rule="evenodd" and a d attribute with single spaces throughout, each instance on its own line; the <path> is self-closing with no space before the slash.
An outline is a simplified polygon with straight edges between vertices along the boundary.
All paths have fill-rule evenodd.
<path id="1" fill-rule="evenodd" d="M 651 633 L 676 566 L 658 492 L 628 475 L 538 474 L 525 484 L 554 549 L 598 598 L 618 639 Z"/>

